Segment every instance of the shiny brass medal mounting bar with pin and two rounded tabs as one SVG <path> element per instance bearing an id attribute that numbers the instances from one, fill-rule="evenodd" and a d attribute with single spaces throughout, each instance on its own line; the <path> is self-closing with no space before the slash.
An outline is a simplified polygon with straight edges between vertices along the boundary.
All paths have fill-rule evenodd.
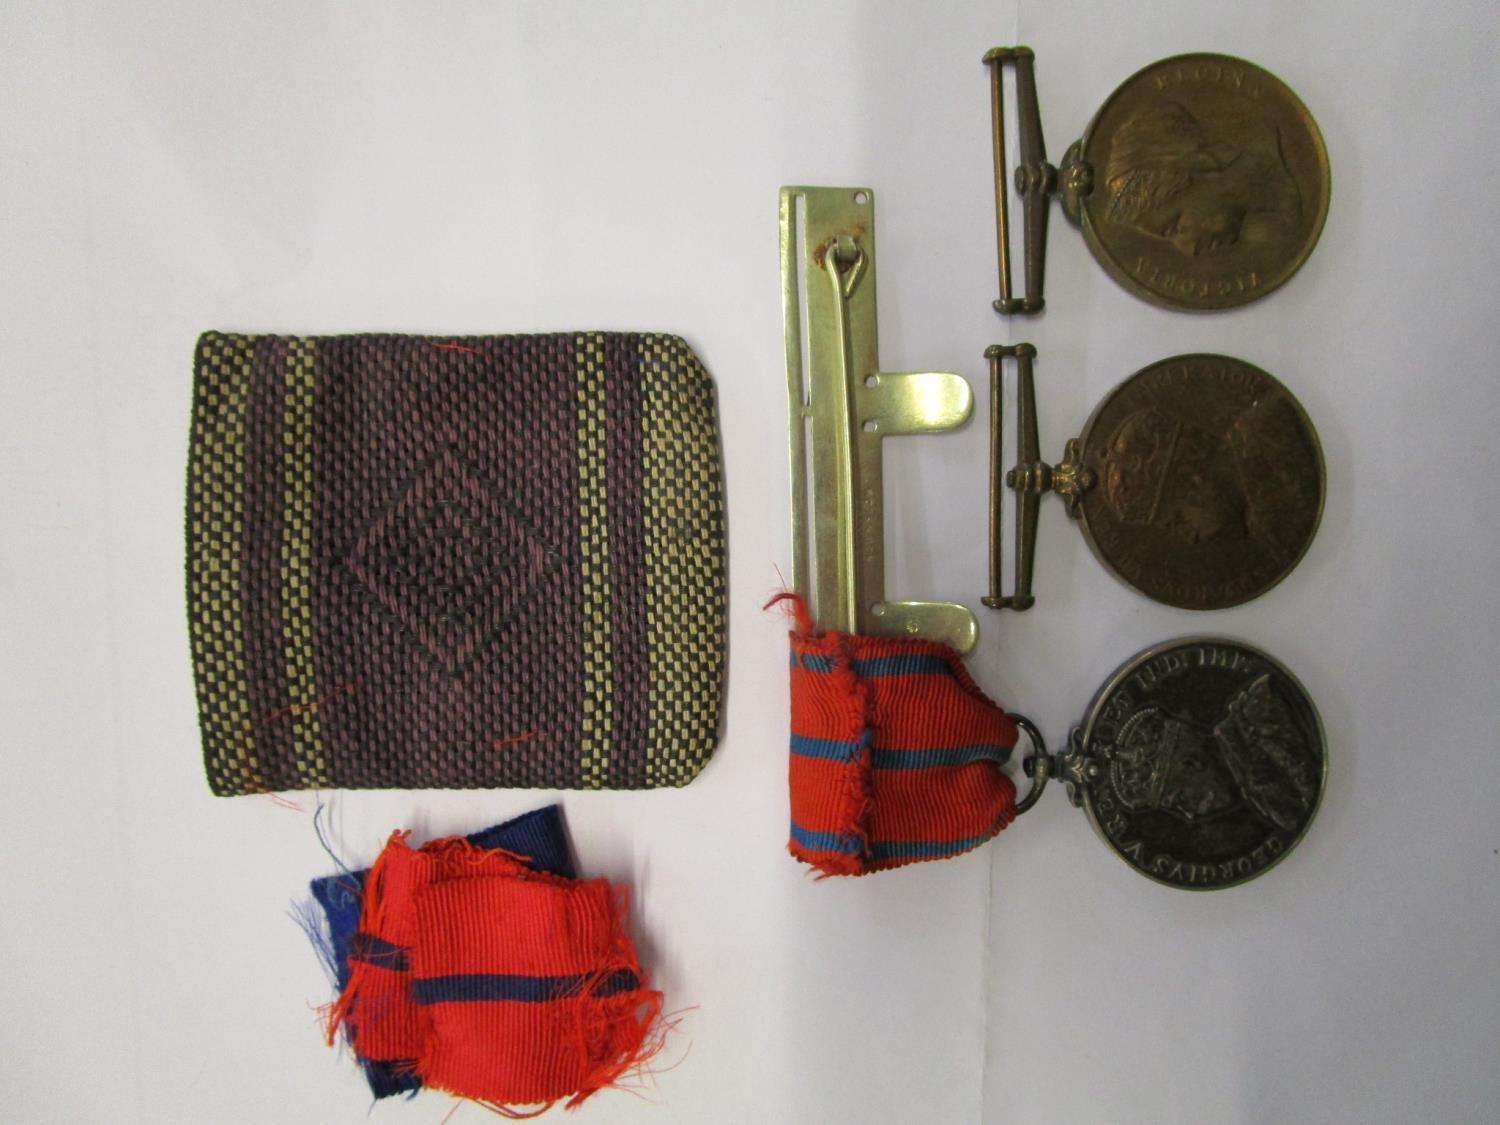
<path id="1" fill-rule="evenodd" d="M 880 442 L 963 424 L 974 393 L 952 372 L 880 370 L 873 190 L 783 188 L 780 220 L 792 586 L 822 628 L 969 652 L 966 606 L 885 597 Z"/>

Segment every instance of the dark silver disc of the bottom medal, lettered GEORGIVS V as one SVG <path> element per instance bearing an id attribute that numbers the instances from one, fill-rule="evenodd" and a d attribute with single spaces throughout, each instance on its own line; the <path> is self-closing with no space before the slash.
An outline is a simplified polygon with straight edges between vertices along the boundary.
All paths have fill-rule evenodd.
<path id="1" fill-rule="evenodd" d="M 1110 676 L 1056 766 L 1131 867 L 1214 890 L 1256 878 L 1296 846 L 1328 758 L 1296 676 L 1248 645 L 1188 638 Z"/>

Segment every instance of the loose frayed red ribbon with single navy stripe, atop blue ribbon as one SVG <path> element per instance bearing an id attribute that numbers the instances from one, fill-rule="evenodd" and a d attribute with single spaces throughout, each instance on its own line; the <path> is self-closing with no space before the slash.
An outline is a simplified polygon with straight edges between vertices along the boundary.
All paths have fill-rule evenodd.
<path id="1" fill-rule="evenodd" d="M 578 1106 L 657 1047 L 624 888 L 528 867 L 462 837 L 394 832 L 364 878 L 328 1020 L 362 1059 L 492 1108 Z"/>

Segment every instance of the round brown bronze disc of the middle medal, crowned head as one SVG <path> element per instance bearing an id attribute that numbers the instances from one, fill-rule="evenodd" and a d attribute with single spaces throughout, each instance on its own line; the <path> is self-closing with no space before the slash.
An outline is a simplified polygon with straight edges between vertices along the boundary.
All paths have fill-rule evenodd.
<path id="1" fill-rule="evenodd" d="M 1110 393 L 1078 438 L 1092 486 L 1077 514 L 1094 554 L 1182 609 L 1263 594 L 1323 512 L 1323 453 L 1302 405 L 1227 356 L 1174 356 Z"/>

